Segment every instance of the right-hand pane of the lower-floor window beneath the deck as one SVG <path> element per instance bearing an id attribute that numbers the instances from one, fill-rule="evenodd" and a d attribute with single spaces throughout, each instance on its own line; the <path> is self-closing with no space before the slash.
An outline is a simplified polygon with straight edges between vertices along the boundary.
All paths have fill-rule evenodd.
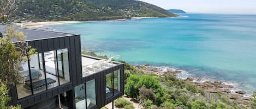
<path id="1" fill-rule="evenodd" d="M 86 82 L 86 98 L 87 108 L 92 108 L 96 105 L 95 80 Z"/>

